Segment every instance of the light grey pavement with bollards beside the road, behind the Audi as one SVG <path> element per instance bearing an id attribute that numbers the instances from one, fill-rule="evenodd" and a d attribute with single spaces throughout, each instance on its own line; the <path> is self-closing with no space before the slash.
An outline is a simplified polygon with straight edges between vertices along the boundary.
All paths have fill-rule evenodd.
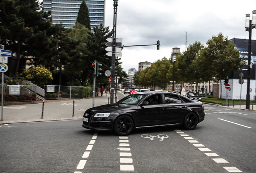
<path id="1" fill-rule="evenodd" d="M 118 100 L 118 99 L 117 99 Z M 93 98 L 89 99 L 70 99 L 68 101 L 55 101 L 52 103 L 29 104 L 29 105 L 12 105 L 4 106 L 3 114 L 0 121 L 1 124 L 9 123 L 26 123 L 26 122 L 39 122 L 39 121 L 57 121 L 57 120 L 70 120 L 82 119 L 84 112 L 93 107 Z M 115 99 L 114 99 L 115 102 Z M 74 114 L 73 114 L 74 103 Z M 103 93 L 103 96 L 95 97 L 94 105 L 106 105 L 110 103 L 110 94 Z M 209 103 L 204 103 L 209 104 Z M 223 106 L 227 107 L 227 106 Z M 246 105 L 229 105 L 229 109 L 246 109 Z M 253 109 L 253 110 L 252 110 Z M 249 110 L 249 109 L 248 109 Z M 256 105 L 250 105 L 250 110 L 256 110 Z M 73 116 L 74 115 L 74 116 Z"/>

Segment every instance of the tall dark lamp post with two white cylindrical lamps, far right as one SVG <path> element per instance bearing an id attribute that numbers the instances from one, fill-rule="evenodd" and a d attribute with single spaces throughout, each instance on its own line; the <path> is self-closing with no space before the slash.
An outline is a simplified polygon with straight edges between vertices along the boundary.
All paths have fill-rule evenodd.
<path id="1" fill-rule="evenodd" d="M 256 10 L 252 11 L 252 20 L 250 14 L 246 14 L 246 31 L 249 31 L 248 40 L 248 66 L 247 66 L 247 94 L 246 94 L 246 109 L 250 109 L 250 63 L 251 63 L 251 48 L 252 48 L 252 29 L 256 25 Z"/>

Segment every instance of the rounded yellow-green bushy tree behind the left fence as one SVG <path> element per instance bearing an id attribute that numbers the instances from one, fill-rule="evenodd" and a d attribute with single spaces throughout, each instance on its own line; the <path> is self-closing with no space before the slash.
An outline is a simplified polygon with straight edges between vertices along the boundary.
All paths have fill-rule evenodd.
<path id="1" fill-rule="evenodd" d="M 27 80 L 29 80 L 33 84 L 38 85 L 39 87 L 43 87 L 45 83 L 53 79 L 50 70 L 42 65 L 39 65 L 37 67 L 32 66 L 28 70 L 24 70 L 21 75 L 27 78 Z"/>

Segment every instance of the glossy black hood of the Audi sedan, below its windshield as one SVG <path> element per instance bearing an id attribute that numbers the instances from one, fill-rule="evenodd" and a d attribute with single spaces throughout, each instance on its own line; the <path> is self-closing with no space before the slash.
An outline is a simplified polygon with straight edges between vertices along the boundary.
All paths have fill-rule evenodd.
<path id="1" fill-rule="evenodd" d="M 114 104 L 92 107 L 92 108 L 88 109 L 87 111 L 93 111 L 93 112 L 96 112 L 96 113 L 99 113 L 99 112 L 101 112 L 101 113 L 112 113 L 112 112 L 115 112 L 115 111 L 130 108 L 131 106 L 132 105 L 114 103 Z"/>

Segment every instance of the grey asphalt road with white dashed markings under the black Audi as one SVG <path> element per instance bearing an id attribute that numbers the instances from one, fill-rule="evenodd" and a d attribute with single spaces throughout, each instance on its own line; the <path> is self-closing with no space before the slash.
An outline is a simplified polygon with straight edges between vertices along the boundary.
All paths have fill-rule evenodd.
<path id="1" fill-rule="evenodd" d="M 82 120 L 0 127 L 1 173 L 256 172 L 256 112 L 204 105 L 195 130 L 140 129 L 127 137 Z"/>

